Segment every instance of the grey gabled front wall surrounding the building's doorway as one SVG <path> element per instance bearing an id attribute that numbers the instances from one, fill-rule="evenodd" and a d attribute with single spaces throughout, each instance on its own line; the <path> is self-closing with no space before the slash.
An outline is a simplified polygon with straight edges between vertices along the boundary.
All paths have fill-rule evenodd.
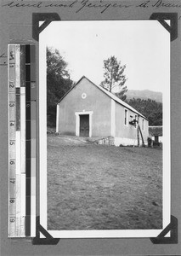
<path id="1" fill-rule="evenodd" d="M 82 94 L 86 97 L 83 99 Z M 76 113 L 92 112 L 92 137 L 110 136 L 110 97 L 87 79 L 82 79 L 59 102 L 58 131 L 65 135 L 76 135 Z"/>

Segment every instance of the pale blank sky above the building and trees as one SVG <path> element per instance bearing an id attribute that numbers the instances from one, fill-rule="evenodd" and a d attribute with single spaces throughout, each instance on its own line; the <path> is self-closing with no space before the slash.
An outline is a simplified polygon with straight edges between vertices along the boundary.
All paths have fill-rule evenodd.
<path id="1" fill-rule="evenodd" d="M 164 91 L 170 80 L 170 34 L 157 20 L 53 21 L 41 44 L 59 49 L 71 79 L 104 80 L 104 60 L 126 65 L 128 90 Z"/>

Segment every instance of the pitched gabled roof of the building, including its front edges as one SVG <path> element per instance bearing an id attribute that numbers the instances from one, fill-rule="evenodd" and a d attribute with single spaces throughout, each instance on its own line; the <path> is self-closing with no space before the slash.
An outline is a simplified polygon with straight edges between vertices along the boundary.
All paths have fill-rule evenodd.
<path id="1" fill-rule="evenodd" d="M 71 87 L 70 90 L 68 90 L 65 95 L 63 97 L 61 97 L 61 99 L 59 100 L 59 102 L 61 102 L 63 100 L 63 98 L 65 98 L 65 96 L 76 87 L 77 84 L 79 84 L 82 79 L 87 79 L 89 83 L 93 84 L 93 82 L 91 80 L 89 80 L 87 77 L 82 76 L 81 79 L 78 80 L 78 82 L 76 82 L 76 84 L 74 86 Z M 126 102 L 123 102 L 120 98 L 118 98 L 116 95 L 112 94 L 110 91 L 105 90 L 105 88 L 93 84 L 94 86 L 96 86 L 99 90 L 102 90 L 107 96 L 109 96 L 111 99 L 113 99 L 115 102 L 119 103 L 120 105 L 124 106 L 125 108 L 128 108 L 130 110 L 132 110 L 134 113 L 139 114 L 140 116 L 144 117 L 144 115 L 142 113 L 139 113 L 139 111 L 137 111 L 135 108 L 131 107 L 129 104 L 127 104 Z M 59 102 L 57 104 L 59 104 Z M 144 119 L 147 119 L 146 117 L 144 117 Z"/>

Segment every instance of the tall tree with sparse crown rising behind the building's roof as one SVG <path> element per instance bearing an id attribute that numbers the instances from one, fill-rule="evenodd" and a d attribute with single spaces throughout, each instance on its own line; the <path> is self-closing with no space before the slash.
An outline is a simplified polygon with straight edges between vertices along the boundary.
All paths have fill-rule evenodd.
<path id="1" fill-rule="evenodd" d="M 127 92 L 127 86 L 124 86 L 126 82 L 126 76 L 123 74 L 126 65 L 121 65 L 121 61 L 117 61 L 115 56 L 110 56 L 104 61 L 104 77 L 105 80 L 101 82 L 100 86 L 104 87 L 106 90 L 112 92 L 114 87 L 118 87 L 120 91 L 116 93 L 121 99 L 126 99 L 124 95 Z"/>

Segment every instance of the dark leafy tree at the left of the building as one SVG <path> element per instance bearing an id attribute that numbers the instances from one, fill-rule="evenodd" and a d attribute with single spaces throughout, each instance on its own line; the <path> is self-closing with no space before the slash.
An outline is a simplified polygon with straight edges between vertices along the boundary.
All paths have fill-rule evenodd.
<path id="1" fill-rule="evenodd" d="M 48 125 L 56 124 L 56 104 L 73 85 L 67 63 L 58 49 L 47 48 L 47 115 Z"/>

